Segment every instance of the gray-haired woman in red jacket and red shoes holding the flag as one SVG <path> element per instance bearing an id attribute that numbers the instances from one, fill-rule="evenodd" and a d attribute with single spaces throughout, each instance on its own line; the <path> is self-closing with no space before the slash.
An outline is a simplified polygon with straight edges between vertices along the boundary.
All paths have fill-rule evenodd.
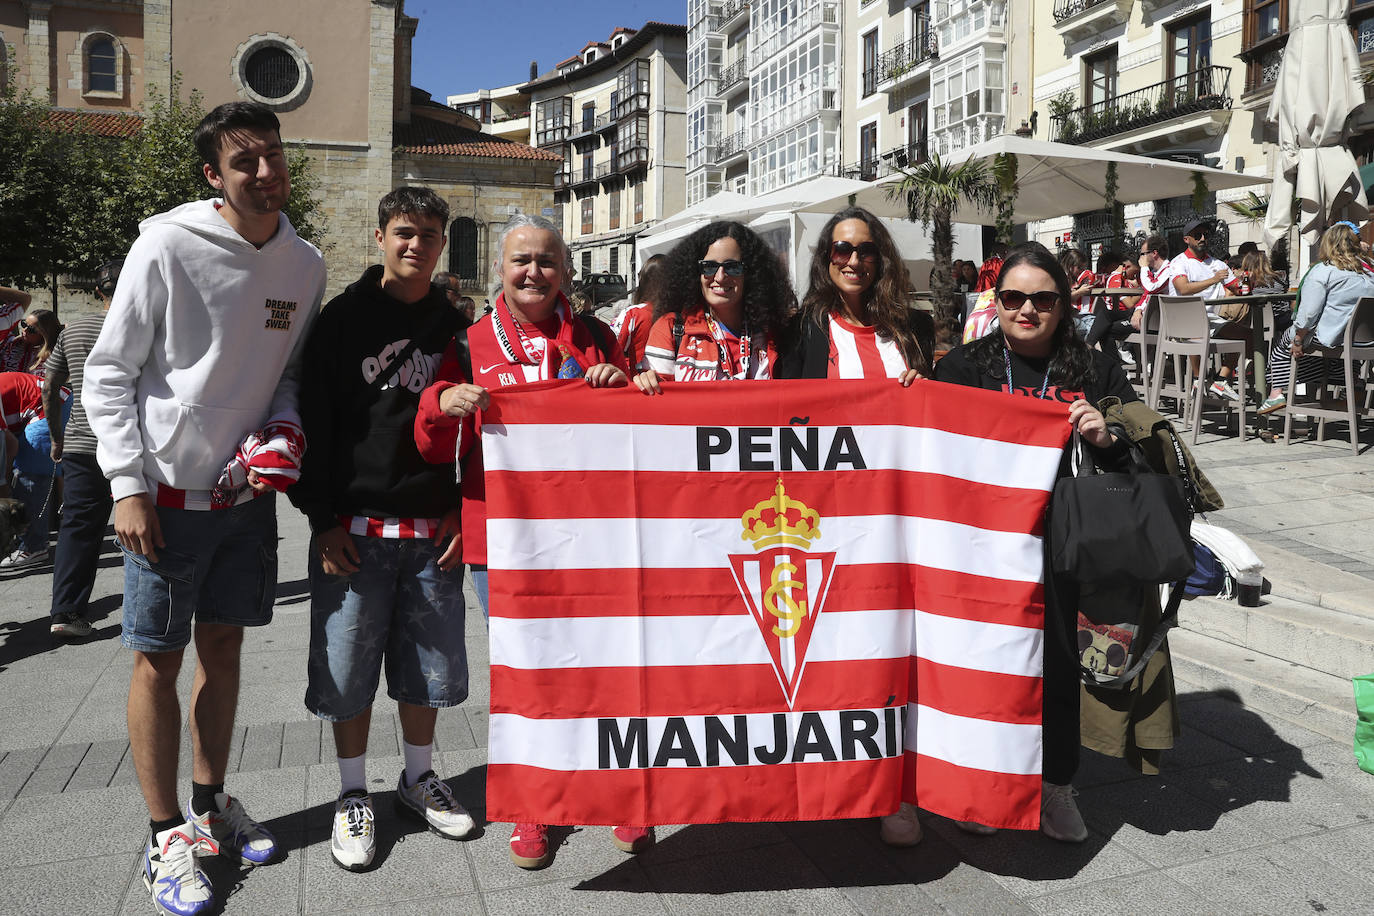
<path id="1" fill-rule="evenodd" d="M 420 396 L 415 444 L 426 460 L 463 468 L 463 562 L 488 610 L 486 488 L 482 479 L 482 415 L 488 390 L 544 379 L 585 379 L 592 387 L 628 383 L 616 335 L 591 314 L 574 314 L 563 286 L 572 258 L 558 228 L 543 217 L 517 216 L 506 224 L 495 264 L 502 288 L 492 312 L 453 338 L 437 380 Z M 616 845 L 639 851 L 647 827 L 614 828 Z M 511 861 L 543 868 L 550 861 L 548 827 L 515 824 Z"/>

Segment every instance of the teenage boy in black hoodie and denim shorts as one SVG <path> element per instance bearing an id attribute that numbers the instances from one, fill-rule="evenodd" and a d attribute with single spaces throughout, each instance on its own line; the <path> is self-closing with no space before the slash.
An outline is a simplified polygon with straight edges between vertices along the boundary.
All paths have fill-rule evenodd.
<path id="1" fill-rule="evenodd" d="M 430 286 L 448 205 L 403 187 L 382 198 L 376 221 L 383 264 L 324 306 L 306 343 L 309 448 L 289 492 L 312 533 L 305 705 L 334 724 L 330 847 L 349 871 L 368 868 L 376 847 L 364 768 L 383 661 L 405 748 L 397 808 L 441 836 L 473 829 L 431 766 L 438 709 L 467 699 L 459 489 L 453 466 L 426 463 L 412 433 L 459 320 Z"/>

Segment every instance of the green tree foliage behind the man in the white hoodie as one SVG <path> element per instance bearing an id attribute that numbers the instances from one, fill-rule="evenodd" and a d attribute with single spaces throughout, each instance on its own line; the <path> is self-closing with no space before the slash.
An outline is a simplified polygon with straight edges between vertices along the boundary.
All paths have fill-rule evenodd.
<path id="1" fill-rule="evenodd" d="M 216 195 L 191 135 L 205 117 L 198 92 L 148 91 L 143 126 L 129 139 L 58 128 L 48 106 L 12 88 L 0 93 L 0 282 L 41 284 L 89 275 L 122 257 L 139 222 Z M 316 244 L 324 236 L 319 176 L 304 150 L 289 150 L 287 218 Z"/>

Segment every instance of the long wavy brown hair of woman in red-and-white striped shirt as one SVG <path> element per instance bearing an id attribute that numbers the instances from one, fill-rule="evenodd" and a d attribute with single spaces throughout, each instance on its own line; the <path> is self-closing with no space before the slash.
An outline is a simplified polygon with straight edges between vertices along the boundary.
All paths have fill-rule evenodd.
<path id="1" fill-rule="evenodd" d="M 820 228 L 820 238 L 816 239 L 816 249 L 811 255 L 811 288 L 801 301 L 802 314 L 824 330 L 831 309 L 840 302 L 840 291 L 830 279 L 830 243 L 834 240 L 835 227 L 845 220 L 861 220 L 878 246 L 878 275 L 863 294 L 874 328 L 879 335 L 897 342 L 908 367 L 922 375 L 930 375 L 930 357 L 921 349 L 921 342 L 911 330 L 911 306 L 907 305 L 911 276 L 907 273 L 907 265 L 888 227 L 863 207 L 841 210 Z"/>

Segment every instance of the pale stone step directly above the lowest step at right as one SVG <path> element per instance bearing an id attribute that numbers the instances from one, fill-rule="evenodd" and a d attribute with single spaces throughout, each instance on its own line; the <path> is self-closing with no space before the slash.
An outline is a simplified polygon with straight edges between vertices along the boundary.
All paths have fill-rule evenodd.
<path id="1" fill-rule="evenodd" d="M 1336 677 L 1374 673 L 1374 619 L 1276 593 L 1259 607 L 1216 597 L 1183 602 L 1179 626 Z"/>

